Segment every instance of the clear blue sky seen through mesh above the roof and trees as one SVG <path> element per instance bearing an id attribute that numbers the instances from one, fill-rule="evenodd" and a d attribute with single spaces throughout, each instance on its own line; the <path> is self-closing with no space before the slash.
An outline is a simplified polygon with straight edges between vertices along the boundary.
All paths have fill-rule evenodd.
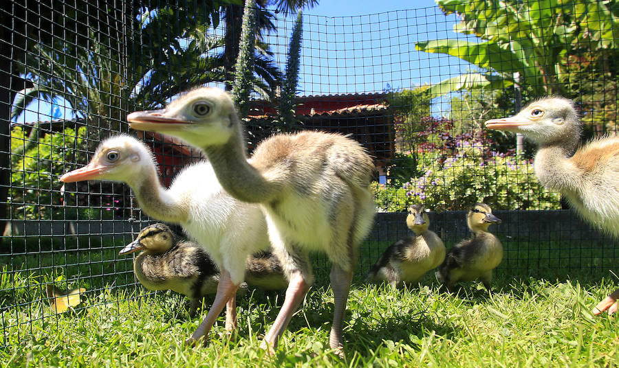
<path id="1" fill-rule="evenodd" d="M 303 14 L 300 95 L 399 91 L 468 67 L 458 58 L 415 50 L 418 41 L 461 37 L 452 31 L 455 15 L 444 16 L 432 0 L 322 0 Z M 284 70 L 294 16 L 278 18 L 267 41 Z M 63 101 L 38 101 L 18 121 L 51 116 L 73 117 Z"/>

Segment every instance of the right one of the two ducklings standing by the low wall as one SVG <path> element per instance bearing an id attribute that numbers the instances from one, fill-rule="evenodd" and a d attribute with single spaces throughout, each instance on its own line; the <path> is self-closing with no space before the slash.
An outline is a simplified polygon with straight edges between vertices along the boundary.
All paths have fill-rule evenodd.
<path id="1" fill-rule="evenodd" d="M 503 260 L 503 245 L 499 239 L 488 232 L 492 224 L 500 224 L 501 219 L 492 214 L 490 206 L 476 203 L 466 216 L 466 224 L 473 232 L 473 238 L 462 240 L 447 252 L 445 261 L 436 271 L 439 281 L 452 290 L 458 281 L 481 279 L 488 291 L 491 287 L 492 270 Z"/>

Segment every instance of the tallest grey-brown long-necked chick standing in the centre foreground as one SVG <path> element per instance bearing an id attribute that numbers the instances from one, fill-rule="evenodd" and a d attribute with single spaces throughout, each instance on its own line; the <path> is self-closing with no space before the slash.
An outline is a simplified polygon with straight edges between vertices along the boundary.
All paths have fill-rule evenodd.
<path id="1" fill-rule="evenodd" d="M 234 102 L 224 91 L 208 87 L 189 91 L 162 110 L 131 113 L 127 121 L 131 128 L 173 135 L 201 148 L 226 192 L 263 210 L 273 250 L 289 279 L 263 348 L 272 352 L 276 347 L 312 283 L 308 253 L 327 253 L 334 292 L 329 345 L 343 354 L 343 316 L 358 245 L 369 233 L 376 208 L 369 188 L 376 168 L 365 149 L 342 135 L 306 131 L 265 139 L 248 160 Z M 224 287 L 213 314 L 209 312 L 188 343 L 210 330 L 223 308 L 221 301 L 238 287 L 227 273 L 221 269 L 219 286 Z"/>

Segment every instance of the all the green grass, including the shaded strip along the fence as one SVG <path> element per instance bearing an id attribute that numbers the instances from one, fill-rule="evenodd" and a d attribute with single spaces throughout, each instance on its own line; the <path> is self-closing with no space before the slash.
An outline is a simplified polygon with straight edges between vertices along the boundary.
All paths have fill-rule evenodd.
<path id="1" fill-rule="evenodd" d="M 495 293 L 467 283 L 450 295 L 439 291 L 432 273 L 406 290 L 363 284 L 362 273 L 389 246 L 367 242 L 349 298 L 342 360 L 327 349 L 333 295 L 324 257 L 314 257 L 316 285 L 270 357 L 259 345 L 283 292 L 239 297 L 235 336 L 220 336 L 221 316 L 208 346 L 190 349 L 182 341 L 212 297 L 202 318 L 189 319 L 185 297 L 133 286 L 131 257 L 117 255 L 124 242 L 39 240 L 0 260 L 0 367 L 619 365 L 619 321 L 589 313 L 618 284 L 602 272 L 611 268 L 605 249 L 503 240 Z M 52 281 L 86 288 L 84 303 L 55 314 L 43 291 Z"/>

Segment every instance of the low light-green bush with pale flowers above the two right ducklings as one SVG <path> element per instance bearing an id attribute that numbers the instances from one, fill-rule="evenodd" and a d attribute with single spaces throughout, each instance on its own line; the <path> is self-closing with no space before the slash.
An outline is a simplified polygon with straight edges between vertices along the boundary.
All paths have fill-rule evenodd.
<path id="1" fill-rule="evenodd" d="M 435 210 L 463 209 L 476 202 L 490 203 L 494 209 L 561 209 L 560 195 L 539 184 L 532 163 L 496 152 L 489 158 L 485 154 L 481 145 L 467 141 L 455 157 L 424 154 L 424 160 L 434 165 L 403 185 L 409 202 Z"/>

